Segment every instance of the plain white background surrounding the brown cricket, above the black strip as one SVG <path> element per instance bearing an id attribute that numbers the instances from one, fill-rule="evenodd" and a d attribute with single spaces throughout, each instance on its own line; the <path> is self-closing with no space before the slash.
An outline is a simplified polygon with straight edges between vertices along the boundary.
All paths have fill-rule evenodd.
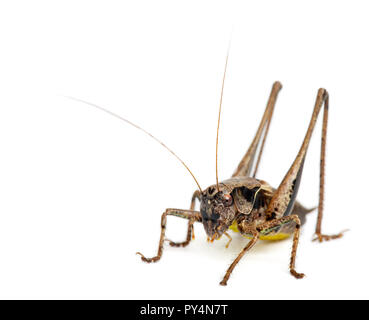
<path id="1" fill-rule="evenodd" d="M 0 5 L 0 298 L 369 298 L 368 6 L 365 1 L 9 1 Z M 160 216 L 215 182 L 215 136 L 228 43 L 219 174 L 245 153 L 273 81 L 278 98 L 260 178 L 277 186 L 302 142 L 319 87 L 330 93 L 323 231 L 260 243 L 219 286 L 245 245 L 165 246 Z M 317 205 L 321 117 L 299 200 Z M 168 238 L 186 221 L 168 219 Z"/>

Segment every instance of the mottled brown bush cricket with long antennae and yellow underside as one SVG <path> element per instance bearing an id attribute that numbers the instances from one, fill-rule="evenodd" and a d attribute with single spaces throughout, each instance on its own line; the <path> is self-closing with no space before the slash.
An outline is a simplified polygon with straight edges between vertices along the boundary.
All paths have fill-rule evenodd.
<path id="1" fill-rule="evenodd" d="M 239 232 L 244 237 L 250 239 L 226 271 L 223 280 L 220 282 L 221 285 L 227 285 L 227 281 L 233 269 L 244 256 L 246 251 L 250 250 L 254 246 L 257 240 L 281 240 L 288 238 L 290 235 L 293 235 L 293 245 L 289 265 L 290 273 L 295 278 L 303 278 L 304 274 L 298 273 L 295 270 L 296 250 L 299 241 L 300 227 L 305 222 L 306 214 L 315 208 L 304 208 L 298 201 L 296 201 L 296 195 L 299 189 L 306 152 L 317 121 L 317 117 L 322 107 L 324 108 L 324 112 L 320 154 L 319 205 L 315 229 L 316 238 L 313 239 L 313 241 L 318 240 L 319 242 L 322 242 L 323 240 L 337 239 L 343 235 L 343 232 L 335 235 L 325 235 L 321 232 L 324 199 L 325 149 L 329 105 L 328 92 L 322 88 L 318 90 L 313 114 L 301 148 L 277 189 L 272 188 L 264 180 L 257 179 L 256 172 L 260 163 L 269 126 L 272 120 L 276 99 L 280 89 L 282 88 L 281 83 L 278 81 L 273 84 L 267 106 L 255 137 L 252 140 L 246 154 L 239 163 L 236 171 L 233 173 L 230 179 L 218 182 L 218 133 L 225 74 L 226 72 L 224 71 L 216 138 L 216 184 L 209 186 L 205 190 L 201 189 L 200 184 L 187 165 L 163 142 L 151 135 L 149 132 L 132 123 L 131 121 L 100 106 L 80 99 L 72 99 L 87 103 L 93 107 L 105 111 L 145 132 L 147 135 L 165 147 L 185 166 L 198 186 L 198 190 L 196 190 L 192 196 L 189 210 L 169 208 L 166 209 L 162 214 L 161 234 L 157 254 L 154 257 L 146 258 L 142 253 L 137 252 L 143 261 L 150 263 L 160 260 L 163 254 L 164 241 L 166 240 L 165 229 L 167 216 L 176 216 L 187 219 L 188 228 L 185 241 L 173 242 L 168 240 L 169 244 L 173 247 L 185 247 L 190 243 L 191 239 L 194 238 L 193 225 L 195 222 L 200 222 L 203 224 L 205 232 L 208 236 L 208 240 L 210 241 L 220 239 L 222 235 L 225 235 L 229 239 L 226 245 L 227 247 L 232 240 L 231 236 L 228 234 L 228 230 Z M 256 163 L 254 164 L 255 158 Z M 200 211 L 195 210 L 196 200 L 200 202 Z"/>

